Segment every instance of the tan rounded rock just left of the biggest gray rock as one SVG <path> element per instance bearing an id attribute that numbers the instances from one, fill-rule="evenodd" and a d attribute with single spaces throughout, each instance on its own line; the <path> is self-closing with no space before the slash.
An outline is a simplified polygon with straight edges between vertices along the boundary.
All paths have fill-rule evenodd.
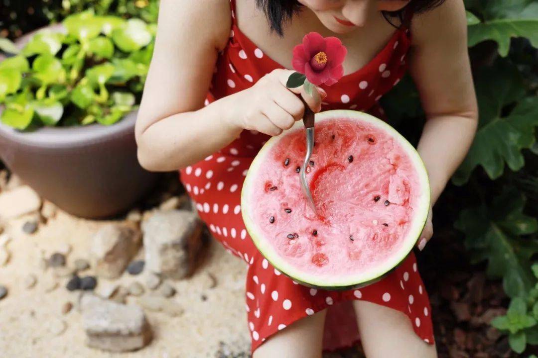
<path id="1" fill-rule="evenodd" d="M 115 279 L 123 273 L 140 247 L 140 232 L 128 225 L 108 224 L 97 231 L 91 244 L 92 266 L 97 276 Z"/>

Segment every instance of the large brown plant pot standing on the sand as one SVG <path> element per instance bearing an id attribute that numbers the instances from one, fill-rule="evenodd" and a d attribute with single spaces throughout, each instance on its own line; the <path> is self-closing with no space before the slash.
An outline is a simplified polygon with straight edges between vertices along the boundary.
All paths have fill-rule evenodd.
<path id="1" fill-rule="evenodd" d="M 31 35 L 23 36 L 17 46 L 22 48 Z M 28 132 L 0 123 L 0 158 L 68 213 L 113 216 L 140 200 L 158 178 L 138 164 L 136 115 L 131 112 L 112 126 L 44 127 Z"/>

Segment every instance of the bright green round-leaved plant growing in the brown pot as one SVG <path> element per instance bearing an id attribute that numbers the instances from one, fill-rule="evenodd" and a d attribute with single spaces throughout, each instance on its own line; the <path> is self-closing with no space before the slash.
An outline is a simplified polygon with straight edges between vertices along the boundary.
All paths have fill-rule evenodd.
<path id="1" fill-rule="evenodd" d="M 6 125 L 112 125 L 139 103 L 154 25 L 91 11 L 62 25 L 65 31 L 40 31 L 20 54 L 0 62 Z"/>

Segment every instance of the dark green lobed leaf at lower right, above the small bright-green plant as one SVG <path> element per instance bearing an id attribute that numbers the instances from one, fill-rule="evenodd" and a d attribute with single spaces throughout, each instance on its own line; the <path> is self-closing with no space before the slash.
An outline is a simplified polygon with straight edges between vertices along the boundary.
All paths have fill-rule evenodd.
<path id="1" fill-rule="evenodd" d="M 455 228 L 465 233 L 465 245 L 473 262 L 488 261 L 486 273 L 502 278 L 510 297 L 525 295 L 536 282 L 530 258 L 538 253 L 538 242 L 521 237 L 538 231 L 536 218 L 523 214 L 525 198 L 513 190 L 493 200 L 490 206 L 462 210 Z M 515 220 L 518 224 L 508 224 Z"/>

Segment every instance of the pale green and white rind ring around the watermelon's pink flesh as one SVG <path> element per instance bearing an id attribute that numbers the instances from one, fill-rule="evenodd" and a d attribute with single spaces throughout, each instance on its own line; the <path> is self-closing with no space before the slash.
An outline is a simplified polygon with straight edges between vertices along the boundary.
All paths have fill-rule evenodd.
<path id="1" fill-rule="evenodd" d="M 281 255 L 275 251 L 271 246 L 268 240 L 263 239 L 263 233 L 258 228 L 256 222 L 250 216 L 250 213 L 256 211 L 256 203 L 247 200 L 248 193 L 251 191 L 251 186 L 254 183 L 255 173 L 260 169 L 260 165 L 263 162 L 263 158 L 270 152 L 270 149 L 278 143 L 279 139 L 282 136 L 286 136 L 292 131 L 302 130 L 303 125 L 301 121 L 295 123 L 295 125 L 282 132 L 278 136 L 270 138 L 270 140 L 265 143 L 265 145 L 260 149 L 257 156 L 252 161 L 249 170 L 247 171 L 245 181 L 243 183 L 243 189 L 241 191 L 241 213 L 243 216 L 243 221 L 247 232 L 249 232 L 250 237 L 254 245 L 258 248 L 260 253 L 271 263 L 271 265 L 278 269 L 279 272 L 290 277 L 292 280 L 302 283 L 309 287 L 321 288 L 321 289 L 330 289 L 330 290 L 343 290 L 343 289 L 352 289 L 360 288 L 367 286 L 373 282 L 379 281 L 388 273 L 392 272 L 395 267 L 397 267 L 402 261 L 405 260 L 407 255 L 413 250 L 417 239 L 419 238 L 424 225 L 428 218 L 428 212 L 430 208 L 430 186 L 429 179 L 426 167 L 422 162 L 422 159 L 416 149 L 411 143 L 409 143 L 406 138 L 404 138 L 397 130 L 388 125 L 388 123 L 364 112 L 352 111 L 350 109 L 334 109 L 331 111 L 325 111 L 317 113 L 315 115 L 316 123 L 320 123 L 325 120 L 330 120 L 334 118 L 345 118 L 350 120 L 356 120 L 361 122 L 367 122 L 371 125 L 386 131 L 390 134 L 395 140 L 400 143 L 401 147 L 407 152 L 409 158 L 414 163 L 414 168 L 418 174 L 420 180 L 420 186 L 422 187 L 422 195 L 417 200 L 417 205 L 414 210 L 416 210 L 415 218 L 412 222 L 411 227 L 409 228 L 407 236 L 402 240 L 400 249 L 395 252 L 389 260 L 383 262 L 383 264 L 378 267 L 374 267 L 369 271 L 362 274 L 355 274 L 352 276 L 344 277 L 334 277 L 334 276 L 320 276 L 316 274 L 310 274 L 302 272 L 293 266 L 289 265 L 286 262 L 286 259 L 281 257 Z M 252 204 L 252 207 L 251 207 Z"/>

